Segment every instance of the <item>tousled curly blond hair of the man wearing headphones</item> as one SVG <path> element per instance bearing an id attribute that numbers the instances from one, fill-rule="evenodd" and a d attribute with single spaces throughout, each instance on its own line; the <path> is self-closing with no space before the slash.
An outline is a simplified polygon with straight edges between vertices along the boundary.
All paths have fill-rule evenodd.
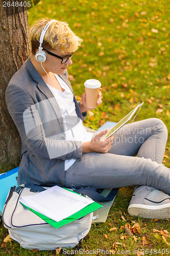
<path id="1" fill-rule="evenodd" d="M 30 28 L 33 54 L 36 54 L 42 30 L 50 20 L 52 19 L 38 19 Z M 82 41 L 83 40 L 79 36 L 75 35 L 75 33 L 71 31 L 66 22 L 59 22 L 56 20 L 56 22 L 52 23 L 50 27 L 48 27 L 44 36 L 42 48 L 47 48 L 47 50 L 60 49 L 62 53 L 71 53 L 78 49 Z"/>

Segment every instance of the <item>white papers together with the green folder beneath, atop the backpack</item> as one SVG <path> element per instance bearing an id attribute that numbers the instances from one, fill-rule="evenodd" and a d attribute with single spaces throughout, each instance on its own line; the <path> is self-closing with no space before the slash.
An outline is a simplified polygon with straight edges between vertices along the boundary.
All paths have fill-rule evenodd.
<path id="1" fill-rule="evenodd" d="M 22 197 L 19 201 L 55 228 L 102 207 L 59 186 L 53 186 L 33 196 Z"/>

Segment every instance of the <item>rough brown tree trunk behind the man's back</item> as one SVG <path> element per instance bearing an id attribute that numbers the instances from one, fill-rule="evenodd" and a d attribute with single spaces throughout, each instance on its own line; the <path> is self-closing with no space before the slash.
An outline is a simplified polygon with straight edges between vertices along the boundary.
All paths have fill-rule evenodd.
<path id="1" fill-rule="evenodd" d="M 0 0 L 0 168 L 20 161 L 20 138 L 7 110 L 5 91 L 31 52 L 27 7 L 2 7 L 3 1 Z"/>

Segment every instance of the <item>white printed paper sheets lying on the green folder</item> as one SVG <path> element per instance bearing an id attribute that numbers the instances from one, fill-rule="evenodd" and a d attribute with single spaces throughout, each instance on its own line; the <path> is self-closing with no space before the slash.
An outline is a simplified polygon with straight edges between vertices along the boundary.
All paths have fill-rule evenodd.
<path id="1" fill-rule="evenodd" d="M 59 186 L 53 186 L 33 196 L 22 197 L 19 201 L 57 222 L 94 202 Z"/>

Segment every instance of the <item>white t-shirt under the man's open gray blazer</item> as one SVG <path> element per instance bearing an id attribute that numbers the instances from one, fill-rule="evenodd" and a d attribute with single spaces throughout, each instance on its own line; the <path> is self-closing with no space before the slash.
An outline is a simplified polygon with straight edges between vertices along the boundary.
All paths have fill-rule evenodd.
<path id="1" fill-rule="evenodd" d="M 90 133 L 85 129 L 82 119 L 80 119 L 78 124 L 75 125 L 71 130 L 67 130 L 65 116 L 77 116 L 74 95 L 71 92 L 70 88 L 67 86 L 67 84 L 64 82 L 64 80 L 56 74 L 55 76 L 60 83 L 60 86 L 64 89 L 64 92 L 59 91 L 54 87 L 51 87 L 49 84 L 47 84 L 47 86 L 59 103 L 63 117 L 63 123 L 65 126 L 65 139 L 82 142 L 90 141 L 92 139 L 93 133 Z M 75 161 L 76 159 L 65 160 L 65 170 L 67 170 L 72 164 L 74 164 Z"/>

